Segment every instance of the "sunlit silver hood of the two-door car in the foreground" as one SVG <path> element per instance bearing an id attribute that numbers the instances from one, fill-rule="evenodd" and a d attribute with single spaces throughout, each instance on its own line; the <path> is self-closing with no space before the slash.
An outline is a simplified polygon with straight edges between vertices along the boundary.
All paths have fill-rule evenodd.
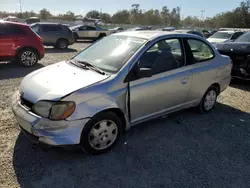
<path id="1" fill-rule="evenodd" d="M 27 75 L 20 85 L 20 93 L 32 103 L 39 100 L 56 101 L 108 77 L 69 62 L 60 62 Z"/>

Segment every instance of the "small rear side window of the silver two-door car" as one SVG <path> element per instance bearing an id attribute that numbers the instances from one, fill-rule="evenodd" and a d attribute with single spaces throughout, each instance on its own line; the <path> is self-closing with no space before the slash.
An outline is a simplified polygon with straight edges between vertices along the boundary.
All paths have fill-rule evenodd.
<path id="1" fill-rule="evenodd" d="M 206 43 L 196 39 L 188 39 L 187 41 L 196 62 L 206 61 L 214 57 L 212 48 Z"/>

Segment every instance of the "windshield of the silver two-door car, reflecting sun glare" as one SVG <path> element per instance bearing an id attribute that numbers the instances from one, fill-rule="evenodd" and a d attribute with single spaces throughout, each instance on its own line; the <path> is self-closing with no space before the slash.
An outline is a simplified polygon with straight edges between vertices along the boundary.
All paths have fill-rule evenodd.
<path id="1" fill-rule="evenodd" d="M 103 71 L 116 73 L 145 42 L 141 38 L 111 35 L 86 48 L 74 59 L 88 62 Z"/>

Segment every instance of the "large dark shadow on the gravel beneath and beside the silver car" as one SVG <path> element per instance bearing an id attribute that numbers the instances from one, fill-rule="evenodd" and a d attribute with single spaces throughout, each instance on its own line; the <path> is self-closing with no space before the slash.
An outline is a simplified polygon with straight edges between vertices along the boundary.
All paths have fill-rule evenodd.
<path id="1" fill-rule="evenodd" d="M 23 188 L 247 187 L 249 124 L 249 113 L 224 104 L 205 115 L 185 110 L 133 127 L 97 156 L 32 149 L 19 134 L 13 167 Z"/>

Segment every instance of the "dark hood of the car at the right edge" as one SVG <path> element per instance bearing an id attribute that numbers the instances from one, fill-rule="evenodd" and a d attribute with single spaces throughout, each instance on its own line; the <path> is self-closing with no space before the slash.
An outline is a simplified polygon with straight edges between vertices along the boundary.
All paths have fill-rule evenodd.
<path id="1" fill-rule="evenodd" d="M 250 43 L 228 42 L 216 45 L 220 52 L 250 53 Z"/>

